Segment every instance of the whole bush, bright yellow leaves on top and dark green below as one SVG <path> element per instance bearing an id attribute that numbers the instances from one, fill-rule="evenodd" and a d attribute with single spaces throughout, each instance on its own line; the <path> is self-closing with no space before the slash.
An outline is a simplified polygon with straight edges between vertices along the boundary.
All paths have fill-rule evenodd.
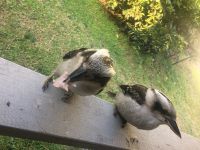
<path id="1" fill-rule="evenodd" d="M 172 6 L 165 4 L 173 14 Z M 176 28 L 163 24 L 162 5 L 160 0 L 109 0 L 107 8 L 123 23 L 121 27 L 141 52 L 180 52 L 186 42 Z"/>

